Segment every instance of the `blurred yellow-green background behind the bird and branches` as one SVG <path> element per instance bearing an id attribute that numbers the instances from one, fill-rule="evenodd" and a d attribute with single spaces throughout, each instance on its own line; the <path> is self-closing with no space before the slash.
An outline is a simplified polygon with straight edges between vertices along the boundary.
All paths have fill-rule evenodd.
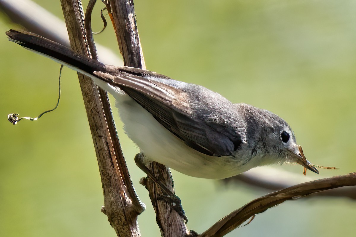
<path id="1" fill-rule="evenodd" d="M 36 2 L 63 18 L 59 1 Z M 308 172 L 313 179 L 356 171 L 356 1 L 136 0 L 135 7 L 149 70 L 280 115 L 310 161 L 340 168 Z M 100 8 L 94 31 L 102 25 Z M 0 32 L 9 28 L 19 27 L 2 16 Z M 119 54 L 111 27 L 95 39 Z M 14 126 L 7 114 L 35 117 L 54 106 L 59 65 L 5 34 L 0 55 L 0 236 L 116 236 L 100 212 L 100 177 L 76 73 L 63 70 L 55 112 Z M 133 162 L 138 149 L 115 118 L 147 205 L 138 220 L 142 236 L 159 236 L 138 184 L 144 176 Z M 298 166 L 277 168 L 302 173 Z M 197 232 L 266 193 L 172 173 L 188 228 Z M 346 198 L 287 201 L 228 236 L 354 236 L 355 211 L 356 202 Z"/>

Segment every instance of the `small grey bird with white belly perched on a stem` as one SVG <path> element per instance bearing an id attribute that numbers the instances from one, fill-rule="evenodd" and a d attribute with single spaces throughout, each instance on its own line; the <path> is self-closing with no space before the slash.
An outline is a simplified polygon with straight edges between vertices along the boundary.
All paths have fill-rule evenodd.
<path id="1" fill-rule="evenodd" d="M 286 121 L 267 110 L 233 104 L 203 86 L 156 72 L 105 65 L 32 33 L 6 34 L 10 41 L 89 76 L 115 97 L 124 130 L 141 150 L 137 165 L 179 208 L 179 198 L 150 173 L 147 163 L 209 179 L 286 161 L 319 173 L 305 159 Z M 185 217 L 183 209 L 177 211 Z"/>

